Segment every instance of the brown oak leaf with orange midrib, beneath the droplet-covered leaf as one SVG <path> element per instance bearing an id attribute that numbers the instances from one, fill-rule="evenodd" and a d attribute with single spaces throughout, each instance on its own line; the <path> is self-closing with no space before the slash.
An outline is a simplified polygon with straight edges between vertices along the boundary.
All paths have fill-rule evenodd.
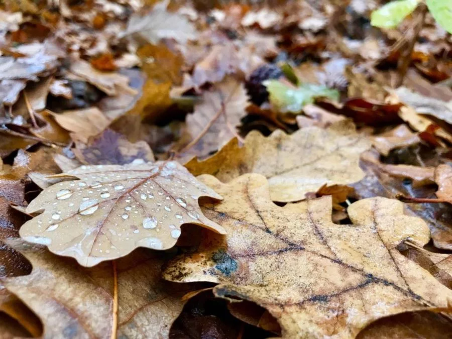
<path id="1" fill-rule="evenodd" d="M 182 310 L 181 296 L 189 290 L 160 278 L 164 260 L 159 253 L 135 251 L 119 259 L 116 267 L 103 263 L 88 269 L 42 246 L 21 240 L 9 244 L 30 260 L 33 270 L 26 276 L 5 279 L 5 287 L 41 318 L 43 337 L 167 337 Z"/>

